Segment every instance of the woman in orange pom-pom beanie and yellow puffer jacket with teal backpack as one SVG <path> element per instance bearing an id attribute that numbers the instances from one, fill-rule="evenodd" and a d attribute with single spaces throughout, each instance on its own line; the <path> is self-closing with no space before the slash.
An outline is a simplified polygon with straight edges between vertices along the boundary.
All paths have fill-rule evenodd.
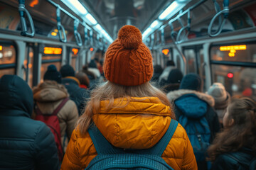
<path id="1" fill-rule="evenodd" d="M 152 56 L 138 28 L 119 30 L 105 54 L 104 73 L 108 81 L 92 91 L 61 169 L 111 169 L 120 162 L 119 168 L 150 169 L 147 161 L 156 152 L 161 166 L 155 169 L 197 169 L 191 143 L 168 98 L 149 83 Z"/>

